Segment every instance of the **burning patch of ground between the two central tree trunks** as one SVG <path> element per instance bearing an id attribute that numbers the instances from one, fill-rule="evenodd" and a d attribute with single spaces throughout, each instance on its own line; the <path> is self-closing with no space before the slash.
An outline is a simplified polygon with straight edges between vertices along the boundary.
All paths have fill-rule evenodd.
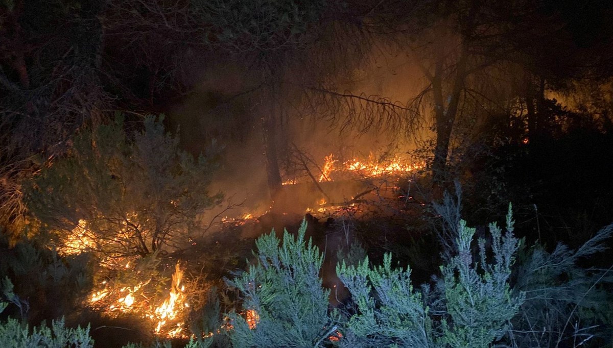
<path id="1" fill-rule="evenodd" d="M 329 154 L 321 165 L 298 153 L 294 175 L 275 197 L 281 211 L 330 215 L 371 211 L 389 200 L 411 200 L 411 181 L 424 168 L 403 156 L 343 157 Z M 381 212 L 383 213 L 383 212 Z"/>

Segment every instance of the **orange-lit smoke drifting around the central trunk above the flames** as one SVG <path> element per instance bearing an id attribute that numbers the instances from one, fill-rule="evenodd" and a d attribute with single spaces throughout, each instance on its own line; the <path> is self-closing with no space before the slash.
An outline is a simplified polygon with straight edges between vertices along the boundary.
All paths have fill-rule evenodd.
<path id="1" fill-rule="evenodd" d="M 170 123 L 178 129 L 183 148 L 197 154 L 207 151 L 213 140 L 223 147 L 211 192 L 223 192 L 226 204 L 207 212 L 207 218 L 218 215 L 236 218 L 248 213 L 258 216 L 270 208 L 272 197 L 267 187 L 262 140 L 262 118 L 270 112 L 270 103 L 280 105 L 283 112 L 276 123 L 283 180 L 306 175 L 305 165 L 299 163 L 297 156 L 308 159 L 308 168 L 316 177 L 319 177 L 318 169 L 324 157 L 331 153 L 340 162 L 397 155 L 411 161 L 409 155 L 414 153 L 419 141 L 428 136 L 423 124 L 413 128 L 403 126 L 412 122 L 408 119 L 387 122 L 372 115 L 370 126 L 364 127 L 360 124 L 363 120 L 352 119 L 355 115 L 349 110 L 357 104 L 346 104 L 343 100 L 351 97 L 334 96 L 340 101 L 329 108 L 327 105 L 311 107 L 313 100 L 308 97 L 312 94 L 305 93 L 305 86 L 316 84 L 304 81 L 301 68 L 304 67 L 289 67 L 281 83 L 287 88 L 270 94 L 262 85 L 261 77 L 249 72 L 242 62 L 211 62 L 202 74 L 202 81 L 187 97 L 169 108 Z M 400 107 L 406 107 L 409 100 L 425 88 L 420 70 L 410 59 L 389 51 L 373 50 L 364 59 L 364 64 L 356 65 L 331 81 L 327 86 L 334 93 L 373 100 L 383 97 Z M 270 95 L 276 100 L 267 99 Z M 378 109 L 370 111 L 376 113 Z M 399 115 L 411 117 L 408 112 Z M 413 132 L 409 133 L 409 129 Z M 346 192 L 341 190 L 343 192 L 335 195 L 351 199 L 357 194 L 351 191 L 359 189 L 362 187 L 350 185 Z M 283 204 L 287 211 L 303 213 L 306 206 L 322 199 L 321 190 L 313 185 L 287 188 L 286 191 L 283 202 L 277 203 Z"/>

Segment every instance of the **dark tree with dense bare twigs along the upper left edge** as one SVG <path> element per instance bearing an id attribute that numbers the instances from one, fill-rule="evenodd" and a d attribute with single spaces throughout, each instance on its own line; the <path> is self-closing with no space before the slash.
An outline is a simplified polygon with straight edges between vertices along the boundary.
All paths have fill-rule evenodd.
<path id="1" fill-rule="evenodd" d="M 53 159 L 83 123 L 101 118 L 102 1 L 0 4 L 0 224 L 17 234 L 21 182 Z M 45 10 L 41 10 L 45 9 Z"/>

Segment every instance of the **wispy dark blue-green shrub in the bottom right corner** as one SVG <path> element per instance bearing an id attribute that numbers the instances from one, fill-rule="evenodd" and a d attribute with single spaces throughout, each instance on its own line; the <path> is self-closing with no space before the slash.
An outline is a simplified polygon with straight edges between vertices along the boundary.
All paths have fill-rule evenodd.
<path id="1" fill-rule="evenodd" d="M 551 252 L 539 244 L 520 249 L 515 289 L 527 297 L 521 315 L 512 320 L 514 344 L 556 346 L 573 339 L 577 346 L 598 336 L 611 339 L 613 272 L 581 264 L 607 249 L 604 241 L 612 235 L 608 225 L 576 251 L 561 243 Z"/>

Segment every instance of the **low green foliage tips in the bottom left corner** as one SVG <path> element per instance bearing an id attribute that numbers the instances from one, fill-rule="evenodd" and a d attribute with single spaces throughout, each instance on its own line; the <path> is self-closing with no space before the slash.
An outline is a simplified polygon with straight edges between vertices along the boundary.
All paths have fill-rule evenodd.
<path id="1" fill-rule="evenodd" d="M 0 303 L 0 312 L 6 303 Z M 87 328 L 66 328 L 64 319 L 51 322 L 51 328 L 45 325 L 29 329 L 18 320 L 9 318 L 0 323 L 0 347 L 19 348 L 92 348 L 94 342 L 89 337 Z"/>

